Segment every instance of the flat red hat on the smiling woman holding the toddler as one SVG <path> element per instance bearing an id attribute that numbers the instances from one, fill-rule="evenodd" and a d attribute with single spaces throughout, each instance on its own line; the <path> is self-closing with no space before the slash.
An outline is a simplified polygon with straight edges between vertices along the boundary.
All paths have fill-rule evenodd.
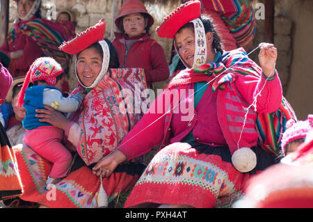
<path id="1" fill-rule="evenodd" d="M 63 42 L 63 44 L 58 48 L 71 55 L 78 54 L 80 51 L 83 51 L 83 49 L 93 45 L 93 43 L 104 40 L 105 32 L 106 23 L 104 22 L 104 19 L 101 19 L 94 26 L 77 34 L 74 39 Z"/>

